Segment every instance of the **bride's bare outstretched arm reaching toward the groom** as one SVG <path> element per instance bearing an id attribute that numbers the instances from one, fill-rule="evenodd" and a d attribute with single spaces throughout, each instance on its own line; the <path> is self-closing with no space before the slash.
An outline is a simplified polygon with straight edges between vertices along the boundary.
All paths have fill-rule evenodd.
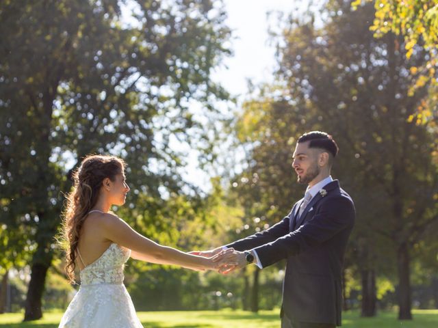
<path id="1" fill-rule="evenodd" d="M 103 236 L 131 249 L 131 257 L 157 264 L 172 264 L 194 270 L 219 269 L 210 258 L 194 256 L 178 249 L 162 246 L 133 230 L 125 221 L 109 213 L 103 214 Z"/>

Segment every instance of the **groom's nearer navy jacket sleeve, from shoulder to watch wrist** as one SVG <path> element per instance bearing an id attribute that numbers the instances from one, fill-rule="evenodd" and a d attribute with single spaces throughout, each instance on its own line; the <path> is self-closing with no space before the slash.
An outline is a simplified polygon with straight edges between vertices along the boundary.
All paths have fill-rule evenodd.
<path id="1" fill-rule="evenodd" d="M 355 207 L 347 197 L 324 202 L 312 219 L 297 230 L 289 232 L 275 241 L 255 248 L 261 265 L 268 267 L 289 256 L 300 254 L 329 240 L 355 220 Z"/>

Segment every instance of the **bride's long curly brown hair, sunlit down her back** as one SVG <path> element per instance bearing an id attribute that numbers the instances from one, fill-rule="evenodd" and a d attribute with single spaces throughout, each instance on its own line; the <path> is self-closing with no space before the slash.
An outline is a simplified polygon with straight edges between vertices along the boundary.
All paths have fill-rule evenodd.
<path id="1" fill-rule="evenodd" d="M 87 155 L 73 172 L 73 189 L 67 195 L 62 217 L 62 247 L 66 251 L 66 274 L 75 282 L 77 245 L 83 222 L 96 205 L 103 180 L 114 181 L 125 171 L 125 161 L 116 156 Z"/>

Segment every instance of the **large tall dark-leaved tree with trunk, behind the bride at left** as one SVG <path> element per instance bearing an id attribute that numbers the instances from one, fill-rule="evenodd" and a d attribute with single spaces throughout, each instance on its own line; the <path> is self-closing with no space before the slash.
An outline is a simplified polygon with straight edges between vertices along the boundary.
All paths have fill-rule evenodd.
<path id="1" fill-rule="evenodd" d="M 127 5 L 131 19 L 123 18 Z M 1 3 L 0 142 L 12 154 L 1 159 L 1 178 L 5 198 L 17 194 L 12 219 L 29 217 L 36 245 L 25 320 L 42 315 L 60 191 L 82 156 L 127 160 L 129 208 L 142 193 L 181 191 L 183 161 L 170 143 L 202 139 L 205 124 L 191 106 L 200 103 L 208 116 L 227 97 L 209 79 L 229 53 L 224 18 L 220 1 Z"/>

